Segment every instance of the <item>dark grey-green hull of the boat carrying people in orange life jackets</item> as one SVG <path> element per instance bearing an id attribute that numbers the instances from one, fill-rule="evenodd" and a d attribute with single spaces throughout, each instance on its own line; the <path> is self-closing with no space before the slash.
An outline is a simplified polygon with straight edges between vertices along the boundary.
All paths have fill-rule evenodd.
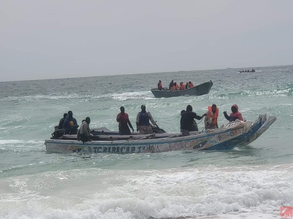
<path id="1" fill-rule="evenodd" d="M 163 88 L 161 91 L 158 90 L 158 88 L 151 88 L 151 93 L 156 98 L 162 98 L 162 97 L 179 97 L 179 96 L 200 96 L 204 94 L 208 94 L 210 89 L 213 86 L 213 82 L 209 81 L 197 86 L 194 86 L 192 88 L 185 89 L 183 91 L 168 91 L 168 88 Z"/>

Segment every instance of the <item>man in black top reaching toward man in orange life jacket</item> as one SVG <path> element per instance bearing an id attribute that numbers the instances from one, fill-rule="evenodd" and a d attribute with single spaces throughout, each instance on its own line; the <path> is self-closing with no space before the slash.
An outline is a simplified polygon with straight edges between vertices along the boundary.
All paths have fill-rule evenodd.
<path id="1" fill-rule="evenodd" d="M 198 116 L 195 112 L 192 112 L 192 106 L 188 105 L 186 107 L 186 112 L 183 112 L 183 115 L 180 119 L 180 130 L 182 132 L 182 136 L 189 135 L 190 131 L 198 131 L 197 124 L 195 123 L 196 126 L 193 126 L 193 120 L 201 120 L 206 115 L 207 114 Z"/>

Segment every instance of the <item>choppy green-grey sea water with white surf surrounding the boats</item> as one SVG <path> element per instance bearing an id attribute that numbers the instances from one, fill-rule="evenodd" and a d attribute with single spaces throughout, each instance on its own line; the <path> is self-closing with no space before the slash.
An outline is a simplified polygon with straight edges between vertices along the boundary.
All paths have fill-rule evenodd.
<path id="1" fill-rule="evenodd" d="M 293 66 L 215 69 L 0 82 L 0 218 L 279 218 L 293 205 Z M 154 98 L 159 80 L 214 82 L 199 97 Z M 145 104 L 160 128 L 178 132 L 188 104 L 203 114 L 237 104 L 246 120 L 277 121 L 231 151 L 159 154 L 48 154 L 63 113 L 117 130 L 124 106 L 135 125 Z M 199 123 L 203 128 L 203 122 Z"/>

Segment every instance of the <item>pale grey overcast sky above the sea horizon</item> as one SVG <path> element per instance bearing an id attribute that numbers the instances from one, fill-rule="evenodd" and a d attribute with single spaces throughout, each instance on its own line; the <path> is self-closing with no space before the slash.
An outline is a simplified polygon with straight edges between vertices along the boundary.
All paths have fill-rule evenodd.
<path id="1" fill-rule="evenodd" d="M 0 1 L 0 81 L 293 64 L 293 1 Z"/>

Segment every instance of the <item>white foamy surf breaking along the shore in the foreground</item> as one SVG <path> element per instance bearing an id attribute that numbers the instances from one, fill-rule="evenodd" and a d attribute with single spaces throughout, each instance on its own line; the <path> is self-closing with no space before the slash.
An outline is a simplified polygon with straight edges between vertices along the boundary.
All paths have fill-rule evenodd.
<path id="1" fill-rule="evenodd" d="M 3 195 L 0 210 L 5 209 L 1 212 L 7 219 L 273 214 L 280 212 L 280 206 L 293 204 L 292 168 L 292 165 L 270 168 L 209 166 L 162 171 L 91 168 L 46 172 L 11 178 L 7 186 L 16 193 Z M 280 180 L 280 175 L 286 181 Z M 77 181 L 79 183 L 75 183 Z M 11 202 L 17 202 L 18 208 Z M 34 207 L 29 207 L 31 202 Z"/>

